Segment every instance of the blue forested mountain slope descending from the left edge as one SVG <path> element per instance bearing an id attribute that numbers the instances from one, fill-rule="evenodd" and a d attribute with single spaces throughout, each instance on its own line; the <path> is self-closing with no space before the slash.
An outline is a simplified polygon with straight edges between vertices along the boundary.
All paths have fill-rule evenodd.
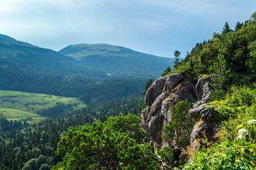
<path id="1" fill-rule="evenodd" d="M 91 67 L 84 67 L 76 60 L 45 48 L 17 41 L 7 35 L 0 36 L 1 67 L 18 67 L 30 72 L 54 74 L 84 74 L 96 72 Z"/>

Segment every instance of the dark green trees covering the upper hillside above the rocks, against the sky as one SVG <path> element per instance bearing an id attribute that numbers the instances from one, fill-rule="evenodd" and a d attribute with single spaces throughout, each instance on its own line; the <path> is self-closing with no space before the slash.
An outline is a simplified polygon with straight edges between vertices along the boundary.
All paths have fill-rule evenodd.
<path id="1" fill-rule="evenodd" d="M 220 59 L 226 61 L 225 71 L 222 76 L 228 79 L 228 86 L 245 84 L 247 81 L 255 81 L 255 16 L 252 14 L 251 21 L 245 21 L 243 26 L 231 30 L 228 23 L 223 32 L 213 33 L 213 38 L 204 43 L 196 44 L 186 60 L 182 61 L 174 72 L 183 72 L 191 75 L 195 80 L 200 74 L 212 74 L 212 69 L 217 63 L 221 66 Z M 223 57 L 220 55 L 223 55 Z M 217 70 L 216 70 L 217 71 Z"/>

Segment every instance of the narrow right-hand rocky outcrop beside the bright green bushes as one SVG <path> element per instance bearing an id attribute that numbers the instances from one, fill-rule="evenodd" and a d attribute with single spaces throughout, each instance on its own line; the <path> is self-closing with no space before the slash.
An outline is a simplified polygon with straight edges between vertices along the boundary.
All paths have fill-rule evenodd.
<path id="1" fill-rule="evenodd" d="M 194 91 L 198 101 L 194 103 L 193 108 L 189 111 L 189 116 L 196 123 L 190 135 L 190 146 L 192 148 L 201 147 L 202 142 L 206 138 L 210 141 L 216 140 L 214 135 L 218 129 L 219 123 L 216 121 L 215 117 L 218 112 L 207 104 L 209 96 L 213 91 L 212 83 L 211 76 L 199 76 L 195 86 Z"/>

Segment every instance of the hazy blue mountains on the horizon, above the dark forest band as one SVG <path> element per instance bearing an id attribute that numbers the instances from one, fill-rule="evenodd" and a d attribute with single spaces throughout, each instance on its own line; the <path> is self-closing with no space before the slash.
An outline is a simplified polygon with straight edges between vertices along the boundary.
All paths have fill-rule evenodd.
<path id="1" fill-rule="evenodd" d="M 107 44 L 69 45 L 59 52 L 0 35 L 0 62 L 6 67 L 33 69 L 89 78 L 158 77 L 173 59 Z"/>

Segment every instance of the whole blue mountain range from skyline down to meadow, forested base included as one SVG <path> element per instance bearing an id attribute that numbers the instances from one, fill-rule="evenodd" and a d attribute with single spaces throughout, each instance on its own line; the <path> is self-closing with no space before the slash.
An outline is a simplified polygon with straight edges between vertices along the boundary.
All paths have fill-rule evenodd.
<path id="1" fill-rule="evenodd" d="M 141 93 L 173 60 L 107 44 L 56 52 L 0 35 L 0 89 L 99 103 Z"/>

